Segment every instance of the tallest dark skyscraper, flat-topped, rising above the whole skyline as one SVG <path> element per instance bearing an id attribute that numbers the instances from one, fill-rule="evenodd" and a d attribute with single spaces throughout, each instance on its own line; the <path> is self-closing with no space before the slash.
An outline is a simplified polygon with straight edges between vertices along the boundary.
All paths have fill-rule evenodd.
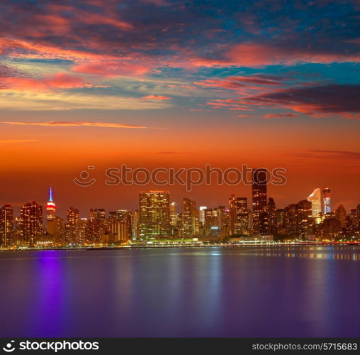
<path id="1" fill-rule="evenodd" d="M 254 234 L 260 234 L 260 214 L 266 212 L 266 169 L 252 170 L 252 224 Z"/>

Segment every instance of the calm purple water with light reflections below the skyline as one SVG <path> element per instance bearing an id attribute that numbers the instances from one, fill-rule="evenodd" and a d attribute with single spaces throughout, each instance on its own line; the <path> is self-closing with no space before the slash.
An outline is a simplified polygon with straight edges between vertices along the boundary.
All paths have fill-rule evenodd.
<path id="1" fill-rule="evenodd" d="M 0 337 L 359 337 L 359 251 L 0 253 Z"/>

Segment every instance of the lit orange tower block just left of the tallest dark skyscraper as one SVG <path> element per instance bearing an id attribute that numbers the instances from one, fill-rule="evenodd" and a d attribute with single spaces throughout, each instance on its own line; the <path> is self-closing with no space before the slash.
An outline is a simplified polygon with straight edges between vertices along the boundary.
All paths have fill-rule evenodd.
<path id="1" fill-rule="evenodd" d="M 249 232 L 249 209 L 247 197 L 229 198 L 230 235 L 248 234 Z"/>

